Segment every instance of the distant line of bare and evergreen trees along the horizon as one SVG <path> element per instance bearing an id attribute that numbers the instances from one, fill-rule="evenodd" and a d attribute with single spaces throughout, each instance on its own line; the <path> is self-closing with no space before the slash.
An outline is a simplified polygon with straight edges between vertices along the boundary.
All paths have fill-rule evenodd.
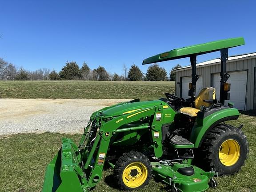
<path id="1" fill-rule="evenodd" d="M 124 64 L 124 75 L 111 74 L 102 66 L 96 69 L 89 68 L 87 63 L 83 63 L 80 68 L 75 61 L 66 62 L 60 72 L 48 68 L 40 68 L 36 71 L 28 71 L 24 68 L 17 68 L 12 63 L 0 58 L 0 80 L 99 80 L 99 81 L 174 81 L 176 74 L 174 69 L 180 68 L 177 64 L 168 74 L 165 68 L 158 64 L 152 64 L 144 74 L 140 68 L 133 64 L 129 69 Z"/>

